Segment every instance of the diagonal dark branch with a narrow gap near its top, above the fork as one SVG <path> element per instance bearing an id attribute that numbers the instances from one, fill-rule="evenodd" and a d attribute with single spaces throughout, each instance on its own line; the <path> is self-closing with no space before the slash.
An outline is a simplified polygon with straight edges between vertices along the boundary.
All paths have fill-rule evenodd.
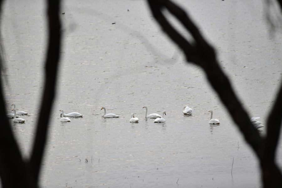
<path id="1" fill-rule="evenodd" d="M 188 15 L 177 5 L 170 1 L 148 1 L 148 3 L 154 17 L 164 29 L 164 32 L 166 32 L 185 52 L 187 61 L 192 61 L 205 70 L 209 82 L 229 110 L 233 120 L 245 135 L 245 139 L 253 147 L 257 155 L 261 157 L 261 145 L 263 140 L 259 136 L 258 131 L 251 124 L 247 112 L 243 109 L 236 97 L 227 76 L 225 76 L 220 69 L 213 48 L 203 39 L 199 30 Z M 191 32 L 194 37 L 195 44 L 192 45 L 191 42 L 187 41 L 170 25 L 160 10 L 164 7 L 168 8 L 173 15 L 179 18 L 182 24 L 185 24 L 186 29 L 189 29 L 188 31 Z M 216 72 L 216 76 L 214 72 Z"/>

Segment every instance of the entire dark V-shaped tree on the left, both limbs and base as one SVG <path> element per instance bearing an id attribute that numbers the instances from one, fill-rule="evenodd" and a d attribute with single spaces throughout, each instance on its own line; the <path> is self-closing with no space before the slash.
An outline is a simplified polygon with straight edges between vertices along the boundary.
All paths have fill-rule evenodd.
<path id="1" fill-rule="evenodd" d="M 0 10 L 3 1 L 0 0 Z M 5 100 L 3 95 L 2 75 L 0 71 L 0 175 L 2 187 L 38 187 L 38 178 L 43 159 L 50 111 L 55 97 L 55 86 L 58 64 L 60 59 L 60 1 L 47 0 L 47 18 L 49 23 L 48 53 L 45 61 L 45 82 L 40 108 L 40 115 L 32 148 L 30 161 L 24 161 L 16 144 L 11 126 L 6 117 Z M 2 11 L 1 11 L 2 12 Z M 1 55 L 2 55 L 1 51 Z M 2 56 L 0 65 L 3 68 Z"/>

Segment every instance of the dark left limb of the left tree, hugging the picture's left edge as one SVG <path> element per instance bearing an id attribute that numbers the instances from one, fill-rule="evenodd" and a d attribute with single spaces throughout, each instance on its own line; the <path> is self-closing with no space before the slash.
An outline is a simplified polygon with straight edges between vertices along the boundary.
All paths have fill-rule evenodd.
<path id="1" fill-rule="evenodd" d="M 0 13 L 2 13 L 0 0 Z M 2 38 L 0 38 L 0 175 L 2 187 L 35 187 L 32 176 L 26 168 L 26 163 L 15 141 L 11 125 L 7 118 L 2 86 L 2 72 L 4 67 Z M 17 177 L 17 180 L 15 180 Z"/>

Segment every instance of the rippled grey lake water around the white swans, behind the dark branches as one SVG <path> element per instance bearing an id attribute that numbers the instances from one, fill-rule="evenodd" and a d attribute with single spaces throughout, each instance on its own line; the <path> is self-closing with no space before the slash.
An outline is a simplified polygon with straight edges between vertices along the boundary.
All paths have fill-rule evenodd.
<path id="1" fill-rule="evenodd" d="M 281 81 L 282 38 L 270 28 L 264 2 L 177 2 L 214 45 L 250 116 L 265 125 Z M 14 0 L 3 7 L 7 111 L 15 103 L 30 113 L 24 124 L 11 121 L 26 157 L 43 87 L 44 6 Z M 146 1 L 69 0 L 61 12 L 63 48 L 42 187 L 261 186 L 255 154 L 202 70 L 187 64 L 154 22 Z M 165 110 L 166 122 L 146 120 L 145 105 L 148 113 Z M 192 116 L 183 116 L 184 105 L 193 109 Z M 102 106 L 120 118 L 102 118 Z M 84 117 L 61 123 L 60 109 Z M 208 124 L 209 110 L 219 126 Z M 129 123 L 131 113 L 138 124 Z M 265 128 L 259 132 L 264 135 Z"/>

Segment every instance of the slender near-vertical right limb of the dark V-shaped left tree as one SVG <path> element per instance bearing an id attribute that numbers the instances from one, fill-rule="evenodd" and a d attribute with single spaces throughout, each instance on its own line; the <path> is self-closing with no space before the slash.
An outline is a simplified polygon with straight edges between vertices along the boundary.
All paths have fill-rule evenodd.
<path id="1" fill-rule="evenodd" d="M 41 161 L 48 134 L 50 111 L 55 97 L 57 69 L 60 59 L 61 24 L 59 18 L 60 1 L 47 0 L 47 14 L 49 23 L 49 46 L 45 62 L 45 85 L 40 107 L 40 115 L 34 140 L 30 165 L 33 170 L 35 182 L 38 182 Z"/>

